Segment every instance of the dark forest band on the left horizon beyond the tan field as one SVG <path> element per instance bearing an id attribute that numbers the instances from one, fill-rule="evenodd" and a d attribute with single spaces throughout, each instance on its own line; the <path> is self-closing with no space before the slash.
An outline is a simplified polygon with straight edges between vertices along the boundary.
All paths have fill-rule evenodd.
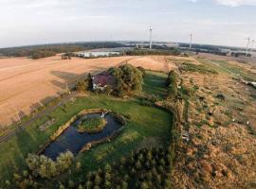
<path id="1" fill-rule="evenodd" d="M 1 48 L 0 57 L 29 57 L 31 59 L 41 59 L 54 56 L 58 53 L 70 53 L 88 49 L 116 47 L 127 47 L 127 45 L 112 42 L 30 45 L 21 47 Z"/>

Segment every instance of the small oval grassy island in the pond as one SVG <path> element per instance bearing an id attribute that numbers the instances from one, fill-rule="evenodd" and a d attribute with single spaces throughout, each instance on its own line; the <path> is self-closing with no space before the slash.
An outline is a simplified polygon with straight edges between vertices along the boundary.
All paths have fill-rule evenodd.
<path id="1" fill-rule="evenodd" d="M 106 123 L 107 121 L 102 117 L 86 118 L 80 122 L 77 130 L 79 132 L 98 133 L 105 128 Z"/>

